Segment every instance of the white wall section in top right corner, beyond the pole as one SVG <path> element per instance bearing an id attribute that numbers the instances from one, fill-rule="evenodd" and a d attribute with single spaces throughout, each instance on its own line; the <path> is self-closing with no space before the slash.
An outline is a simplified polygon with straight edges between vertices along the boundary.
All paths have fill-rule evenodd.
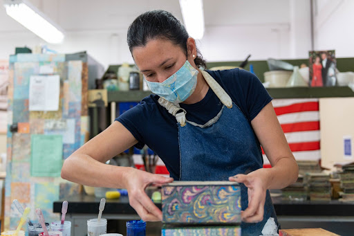
<path id="1" fill-rule="evenodd" d="M 335 49 L 336 57 L 354 57 L 353 10 L 353 0 L 315 1 L 315 50 Z"/>

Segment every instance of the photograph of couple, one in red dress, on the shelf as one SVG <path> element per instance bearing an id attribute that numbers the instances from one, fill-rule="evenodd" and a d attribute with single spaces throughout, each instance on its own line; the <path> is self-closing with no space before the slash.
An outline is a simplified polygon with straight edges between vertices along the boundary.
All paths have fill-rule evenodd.
<path id="1" fill-rule="evenodd" d="M 337 61 L 335 51 L 309 52 L 310 87 L 333 87 L 337 85 Z"/>

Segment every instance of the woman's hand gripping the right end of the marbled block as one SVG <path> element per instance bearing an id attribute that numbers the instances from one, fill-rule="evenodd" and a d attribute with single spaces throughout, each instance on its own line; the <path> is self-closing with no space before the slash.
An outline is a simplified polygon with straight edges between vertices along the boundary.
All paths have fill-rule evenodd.
<path id="1" fill-rule="evenodd" d="M 236 174 L 229 177 L 230 181 L 243 183 L 248 188 L 248 208 L 241 211 L 243 222 L 257 223 L 263 220 L 268 180 L 266 175 L 265 169 L 259 169 L 250 174 Z"/>

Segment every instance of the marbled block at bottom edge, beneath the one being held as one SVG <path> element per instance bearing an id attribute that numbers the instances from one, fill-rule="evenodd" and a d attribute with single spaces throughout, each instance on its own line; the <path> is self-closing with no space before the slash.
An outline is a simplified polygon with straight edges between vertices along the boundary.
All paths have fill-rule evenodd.
<path id="1" fill-rule="evenodd" d="M 162 227 L 162 236 L 241 236 L 240 226 Z"/>

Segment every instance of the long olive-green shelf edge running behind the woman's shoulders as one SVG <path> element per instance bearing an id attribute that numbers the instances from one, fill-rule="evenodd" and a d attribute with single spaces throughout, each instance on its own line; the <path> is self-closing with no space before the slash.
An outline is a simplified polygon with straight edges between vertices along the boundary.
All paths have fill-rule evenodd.
<path id="1" fill-rule="evenodd" d="M 354 97 L 349 87 L 293 87 L 268 88 L 272 98 L 346 98 Z M 151 91 L 114 91 L 108 92 L 108 102 L 139 102 L 151 94 Z"/>

